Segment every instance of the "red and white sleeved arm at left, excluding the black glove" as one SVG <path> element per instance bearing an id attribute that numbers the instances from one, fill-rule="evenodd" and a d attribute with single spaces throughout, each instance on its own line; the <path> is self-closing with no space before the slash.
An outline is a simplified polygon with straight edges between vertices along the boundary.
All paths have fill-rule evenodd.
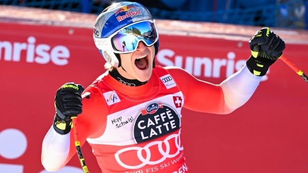
<path id="1" fill-rule="evenodd" d="M 97 107 L 98 104 L 100 107 Z M 82 99 L 82 114 L 79 114 L 77 118 L 81 146 L 88 136 L 94 134 L 99 128 L 104 128 L 101 125 L 106 122 L 105 116 L 102 116 L 106 115 L 104 105 L 98 92 L 91 91 L 90 97 Z M 93 121 L 93 116 L 95 116 L 95 122 L 99 123 Z M 43 140 L 41 162 L 47 171 L 60 170 L 76 153 L 73 131 L 67 134 L 60 134 L 57 131 L 52 126 Z"/>

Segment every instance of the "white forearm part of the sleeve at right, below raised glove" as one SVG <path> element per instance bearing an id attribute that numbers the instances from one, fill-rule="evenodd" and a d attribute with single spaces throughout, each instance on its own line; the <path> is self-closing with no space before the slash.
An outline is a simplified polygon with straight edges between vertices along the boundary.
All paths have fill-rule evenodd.
<path id="1" fill-rule="evenodd" d="M 262 76 L 253 75 L 246 65 L 224 80 L 223 89 L 225 103 L 231 111 L 244 105 L 258 87 Z"/>

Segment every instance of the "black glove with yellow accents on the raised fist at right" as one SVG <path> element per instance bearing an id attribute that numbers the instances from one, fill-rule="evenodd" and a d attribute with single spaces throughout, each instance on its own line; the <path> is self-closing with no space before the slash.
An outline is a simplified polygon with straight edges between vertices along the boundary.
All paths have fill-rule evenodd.
<path id="1" fill-rule="evenodd" d="M 256 76 L 264 76 L 286 48 L 285 42 L 269 28 L 257 31 L 249 40 L 251 56 L 246 61 L 249 71 Z"/>

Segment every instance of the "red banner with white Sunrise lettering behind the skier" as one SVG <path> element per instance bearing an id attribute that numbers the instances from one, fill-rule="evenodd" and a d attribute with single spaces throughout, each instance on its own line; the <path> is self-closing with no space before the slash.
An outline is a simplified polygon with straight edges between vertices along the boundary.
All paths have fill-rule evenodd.
<path id="1" fill-rule="evenodd" d="M 56 90 L 72 81 L 89 85 L 105 71 L 105 61 L 91 29 L 0 26 L 0 170 L 46 173 L 41 145 L 55 114 Z M 161 34 L 156 63 L 219 84 L 249 57 L 247 41 Z M 308 71 L 307 50 L 308 45 L 287 43 L 284 55 Z M 301 77 L 277 60 L 251 100 L 232 114 L 184 110 L 182 140 L 190 172 L 307 173 L 307 89 Z M 99 173 L 90 147 L 82 149 L 89 171 Z M 61 173 L 82 173 L 76 156 Z"/>

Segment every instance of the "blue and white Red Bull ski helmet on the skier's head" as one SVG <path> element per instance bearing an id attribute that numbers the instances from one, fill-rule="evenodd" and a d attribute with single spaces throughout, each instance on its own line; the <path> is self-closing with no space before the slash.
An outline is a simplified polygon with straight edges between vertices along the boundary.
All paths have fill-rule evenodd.
<path id="1" fill-rule="evenodd" d="M 114 67 L 121 66 L 119 51 L 114 49 L 111 41 L 113 34 L 141 21 L 151 21 L 155 28 L 150 11 L 138 2 L 117 2 L 105 8 L 96 18 L 93 32 L 95 46 L 103 58 Z M 156 40 L 154 41 L 155 55 L 158 51 L 158 34 L 155 29 Z M 108 38 L 108 39 L 106 39 Z M 145 43 L 145 41 L 143 41 Z"/>

